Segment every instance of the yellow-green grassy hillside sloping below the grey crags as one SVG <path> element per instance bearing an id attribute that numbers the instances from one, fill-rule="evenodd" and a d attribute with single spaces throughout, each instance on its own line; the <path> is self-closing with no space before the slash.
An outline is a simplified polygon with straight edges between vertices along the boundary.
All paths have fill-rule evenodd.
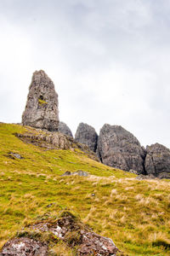
<path id="1" fill-rule="evenodd" d="M 139 181 L 79 150 L 47 150 L 14 136 L 26 127 L 0 124 L 0 246 L 42 214 L 70 209 L 128 255 L 169 255 L 170 183 Z M 12 159 L 10 153 L 23 159 Z M 83 170 L 88 177 L 61 177 Z M 51 205 L 50 205 L 51 204 Z M 72 255 L 65 247 L 56 253 Z M 59 255 L 59 254 L 58 254 Z"/>

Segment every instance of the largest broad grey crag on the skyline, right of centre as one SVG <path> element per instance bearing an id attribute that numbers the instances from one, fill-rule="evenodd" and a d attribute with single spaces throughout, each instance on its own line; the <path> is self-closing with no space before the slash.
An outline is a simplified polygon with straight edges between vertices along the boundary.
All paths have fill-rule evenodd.
<path id="1" fill-rule="evenodd" d="M 119 125 L 105 124 L 99 132 L 97 153 L 107 166 L 144 174 L 144 149 L 132 133 Z"/>

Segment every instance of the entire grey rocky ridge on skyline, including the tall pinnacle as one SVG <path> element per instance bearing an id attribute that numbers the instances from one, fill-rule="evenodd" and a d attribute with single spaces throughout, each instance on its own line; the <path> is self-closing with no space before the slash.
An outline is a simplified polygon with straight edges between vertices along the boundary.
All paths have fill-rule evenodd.
<path id="1" fill-rule="evenodd" d="M 88 152 L 89 149 L 93 152 L 97 150 L 99 159 L 107 166 L 128 172 L 134 170 L 138 174 L 152 174 L 155 177 L 170 176 L 169 149 L 158 143 L 145 149 L 140 146 L 137 138 L 122 126 L 105 124 L 98 137 L 94 127 L 80 123 L 74 141 L 70 128 L 59 122 L 58 95 L 54 90 L 53 81 L 42 70 L 33 73 L 22 124 L 45 130 L 46 135 L 40 137 L 18 135 L 21 139 L 43 145 L 44 148 L 68 149 L 78 143 L 77 148 L 84 152 Z M 47 131 L 58 130 L 61 135 L 47 134 Z M 63 137 L 62 134 L 71 137 L 72 140 Z"/>

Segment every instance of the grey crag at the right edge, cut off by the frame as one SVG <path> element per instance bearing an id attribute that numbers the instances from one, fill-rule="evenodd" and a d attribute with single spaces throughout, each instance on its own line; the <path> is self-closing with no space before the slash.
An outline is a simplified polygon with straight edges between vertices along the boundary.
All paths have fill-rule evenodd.
<path id="1" fill-rule="evenodd" d="M 145 170 L 156 177 L 170 178 L 170 149 L 156 143 L 146 147 Z"/>

